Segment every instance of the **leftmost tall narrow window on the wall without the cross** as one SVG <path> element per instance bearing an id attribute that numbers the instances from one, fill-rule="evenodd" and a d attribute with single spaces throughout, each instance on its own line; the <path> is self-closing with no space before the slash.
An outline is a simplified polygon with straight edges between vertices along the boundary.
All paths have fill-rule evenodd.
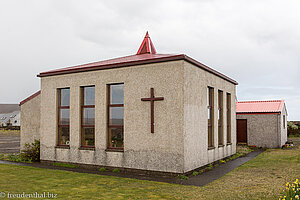
<path id="1" fill-rule="evenodd" d="M 208 147 L 214 147 L 214 88 L 207 88 Z"/>

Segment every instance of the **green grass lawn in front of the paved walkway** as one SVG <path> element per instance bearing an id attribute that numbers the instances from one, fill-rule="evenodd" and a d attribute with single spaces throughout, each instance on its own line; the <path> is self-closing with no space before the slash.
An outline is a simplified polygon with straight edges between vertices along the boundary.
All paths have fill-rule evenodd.
<path id="1" fill-rule="evenodd" d="M 57 194 L 57 199 L 278 199 L 300 178 L 300 149 L 270 149 L 204 186 L 182 186 L 0 164 L 0 192 Z"/>

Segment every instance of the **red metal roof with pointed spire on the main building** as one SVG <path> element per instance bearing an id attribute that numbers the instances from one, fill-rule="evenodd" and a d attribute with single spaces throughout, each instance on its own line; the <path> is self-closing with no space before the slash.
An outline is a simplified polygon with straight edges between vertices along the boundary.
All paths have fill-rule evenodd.
<path id="1" fill-rule="evenodd" d="M 225 76 L 224 74 L 217 72 L 216 70 L 188 57 L 184 54 L 156 54 L 156 50 L 151 42 L 149 34 L 147 32 L 138 54 L 125 56 L 120 58 L 114 58 L 94 63 L 88 63 L 84 65 L 78 65 L 73 67 L 67 67 L 62 69 L 51 70 L 47 72 L 41 72 L 38 77 L 45 77 L 45 76 L 53 76 L 53 75 L 60 75 L 60 74 L 69 74 L 69 73 L 77 73 L 77 72 L 86 72 L 86 71 L 93 71 L 93 70 L 104 70 L 104 69 L 113 69 L 113 68 L 121 68 L 121 67 L 129 67 L 135 65 L 142 65 L 142 64 L 151 64 L 151 63 L 158 63 L 158 62 L 167 62 L 167 61 L 176 61 L 176 60 L 185 60 L 189 63 L 192 63 L 199 68 L 202 68 L 224 80 L 227 80 L 235 85 L 238 83 Z"/>

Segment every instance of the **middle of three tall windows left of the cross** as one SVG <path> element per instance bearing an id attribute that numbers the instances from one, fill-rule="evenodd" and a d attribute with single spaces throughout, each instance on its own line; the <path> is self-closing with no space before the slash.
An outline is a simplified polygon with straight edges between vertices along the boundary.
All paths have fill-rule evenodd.
<path id="1" fill-rule="evenodd" d="M 95 147 L 95 86 L 81 87 L 81 146 Z"/>

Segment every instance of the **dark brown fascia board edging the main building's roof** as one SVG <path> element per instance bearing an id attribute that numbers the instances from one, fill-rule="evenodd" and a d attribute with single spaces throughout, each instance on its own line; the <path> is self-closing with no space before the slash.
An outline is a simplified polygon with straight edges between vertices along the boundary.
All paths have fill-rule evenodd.
<path id="1" fill-rule="evenodd" d="M 179 54 L 174 56 L 168 56 L 163 58 L 154 58 L 149 60 L 139 60 L 139 61 L 131 61 L 131 62 L 124 62 L 124 63 L 113 63 L 113 64 L 107 64 L 107 65 L 100 65 L 100 66 L 92 66 L 92 67 L 83 67 L 83 68 L 70 68 L 67 70 L 62 71 L 53 71 L 53 72 L 43 72 L 37 75 L 37 77 L 46 77 L 46 76 L 55 76 L 55 75 L 62 75 L 62 74 L 70 74 L 70 73 L 78 73 L 78 72 L 87 72 L 87 71 L 94 71 L 94 70 L 105 70 L 105 69 L 115 69 L 115 68 L 121 68 L 121 67 L 128 67 L 128 66 L 135 66 L 135 65 L 142 65 L 142 64 L 152 64 L 152 63 L 159 63 L 159 62 L 168 62 L 168 61 L 176 61 L 176 60 L 185 60 L 191 64 L 196 65 L 197 67 L 208 71 L 224 80 L 229 81 L 230 83 L 233 83 L 234 85 L 238 85 L 238 83 L 229 78 L 228 76 L 225 76 L 224 74 L 190 58 L 189 56 L 185 54 Z"/>

